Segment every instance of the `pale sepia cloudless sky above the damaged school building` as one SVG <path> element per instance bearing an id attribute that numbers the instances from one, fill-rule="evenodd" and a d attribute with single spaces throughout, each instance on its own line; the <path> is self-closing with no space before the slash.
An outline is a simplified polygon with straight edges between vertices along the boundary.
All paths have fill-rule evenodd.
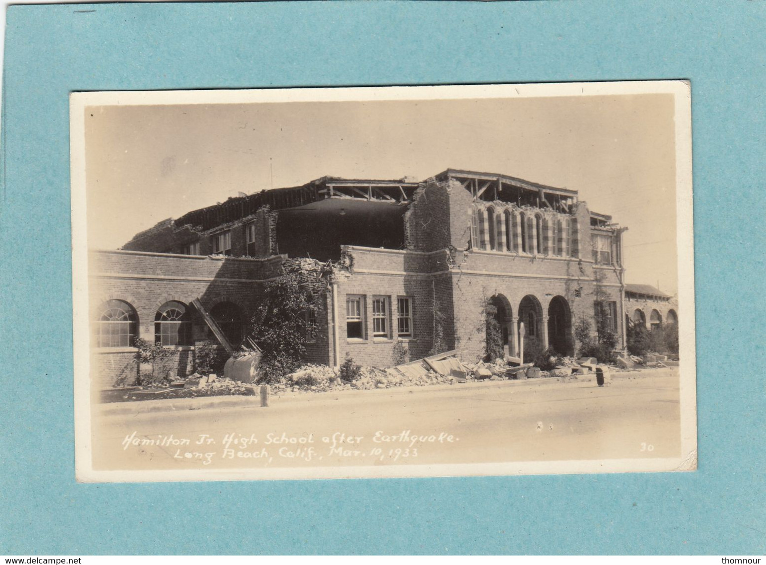
<path id="1" fill-rule="evenodd" d="M 91 248 L 238 192 L 468 169 L 578 190 L 627 226 L 626 281 L 677 290 L 672 94 L 110 105 L 85 120 Z"/>

